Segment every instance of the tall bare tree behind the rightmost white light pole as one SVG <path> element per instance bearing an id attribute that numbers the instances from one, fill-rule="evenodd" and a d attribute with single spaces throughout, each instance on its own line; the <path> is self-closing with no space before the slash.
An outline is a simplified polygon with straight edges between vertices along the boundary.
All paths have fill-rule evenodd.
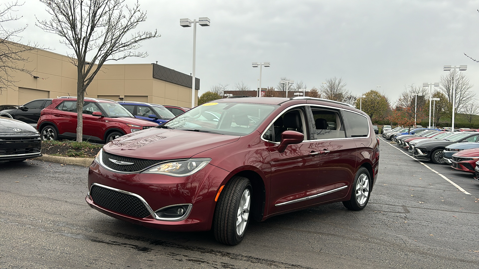
<path id="1" fill-rule="evenodd" d="M 449 100 L 448 112 L 452 116 L 452 102 L 453 102 L 453 82 L 454 89 L 456 90 L 456 105 L 455 116 L 459 112 L 460 108 L 465 107 L 469 101 L 474 100 L 476 94 L 471 90 L 474 86 L 470 84 L 469 78 L 463 73 L 452 69 L 446 75 L 442 75 L 439 79 L 439 89 L 445 94 L 447 100 Z"/>

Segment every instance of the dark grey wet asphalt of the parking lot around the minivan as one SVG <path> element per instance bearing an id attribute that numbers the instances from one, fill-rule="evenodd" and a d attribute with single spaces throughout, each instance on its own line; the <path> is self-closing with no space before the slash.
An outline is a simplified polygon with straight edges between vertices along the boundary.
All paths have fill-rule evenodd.
<path id="1" fill-rule="evenodd" d="M 342 203 L 251 223 L 234 247 L 209 232 L 116 220 L 84 198 L 88 169 L 0 162 L 0 268 L 478 268 L 479 182 L 381 141 L 365 210 Z"/>

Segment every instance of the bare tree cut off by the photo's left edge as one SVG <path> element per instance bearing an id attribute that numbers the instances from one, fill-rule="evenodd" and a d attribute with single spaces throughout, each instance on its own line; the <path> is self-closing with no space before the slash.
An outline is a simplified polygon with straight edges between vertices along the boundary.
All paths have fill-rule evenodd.
<path id="1" fill-rule="evenodd" d="M 0 7 L 0 94 L 3 90 L 15 87 L 14 73 L 23 72 L 30 76 L 33 70 L 25 67 L 25 62 L 29 62 L 27 53 L 36 51 L 37 44 L 27 45 L 20 44 L 20 33 L 25 30 L 28 25 L 16 29 L 7 29 L 4 24 L 14 22 L 21 17 L 15 16 L 12 12 L 17 11 L 16 8 L 21 6 L 18 1 L 11 3 L 3 3 Z"/>

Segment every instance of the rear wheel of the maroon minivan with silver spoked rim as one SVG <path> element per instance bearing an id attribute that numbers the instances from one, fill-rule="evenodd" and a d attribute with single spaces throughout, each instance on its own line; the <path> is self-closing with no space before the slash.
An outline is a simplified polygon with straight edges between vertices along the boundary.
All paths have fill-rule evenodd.
<path id="1" fill-rule="evenodd" d="M 373 182 L 371 181 L 369 171 L 364 167 L 359 168 L 358 172 L 356 173 L 356 177 L 354 178 L 351 199 L 349 201 L 342 202 L 342 204 L 344 204 L 344 206 L 349 210 L 363 210 L 369 201 L 372 183 Z"/>

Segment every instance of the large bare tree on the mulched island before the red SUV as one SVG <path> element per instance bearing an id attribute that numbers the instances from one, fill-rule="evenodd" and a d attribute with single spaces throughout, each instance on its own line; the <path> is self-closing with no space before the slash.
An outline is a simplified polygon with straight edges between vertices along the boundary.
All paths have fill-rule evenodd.
<path id="1" fill-rule="evenodd" d="M 73 49 L 71 63 L 77 67 L 77 141 L 83 133 L 83 103 L 85 90 L 108 60 L 126 57 L 146 57 L 137 52 L 139 43 L 160 36 L 155 32 L 132 31 L 147 19 L 138 1 L 133 7 L 125 0 L 40 0 L 52 16 L 38 21 L 45 32 L 58 34 L 61 43 Z M 87 60 L 87 57 L 90 60 Z"/>

